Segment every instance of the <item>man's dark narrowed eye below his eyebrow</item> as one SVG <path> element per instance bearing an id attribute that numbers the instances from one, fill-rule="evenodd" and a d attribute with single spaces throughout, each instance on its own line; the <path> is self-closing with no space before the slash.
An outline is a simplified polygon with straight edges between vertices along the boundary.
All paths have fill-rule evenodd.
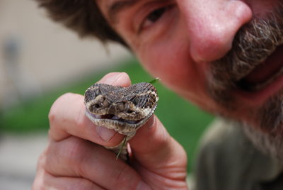
<path id="1" fill-rule="evenodd" d="M 141 22 L 141 25 L 139 26 L 139 32 L 142 30 L 149 28 L 153 26 L 155 23 L 157 23 L 159 20 L 163 18 L 163 16 L 172 8 L 171 5 L 168 6 L 161 6 L 153 11 L 150 11 L 149 14 L 147 14 L 144 18 L 144 21 Z"/>

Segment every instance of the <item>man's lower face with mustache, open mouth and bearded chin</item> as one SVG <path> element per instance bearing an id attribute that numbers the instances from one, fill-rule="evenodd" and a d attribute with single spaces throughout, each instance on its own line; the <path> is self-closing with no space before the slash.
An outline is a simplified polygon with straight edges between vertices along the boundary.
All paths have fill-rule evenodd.
<path id="1" fill-rule="evenodd" d="M 281 1 L 280 1 L 281 2 Z M 207 92 L 263 152 L 283 159 L 283 6 L 254 18 L 210 64 Z"/>

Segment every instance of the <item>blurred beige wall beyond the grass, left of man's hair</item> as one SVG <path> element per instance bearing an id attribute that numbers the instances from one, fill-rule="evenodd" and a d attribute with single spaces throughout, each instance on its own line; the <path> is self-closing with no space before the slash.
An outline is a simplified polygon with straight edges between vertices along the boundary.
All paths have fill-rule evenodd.
<path id="1" fill-rule="evenodd" d="M 0 0 L 0 106 L 130 57 L 50 21 L 33 0 Z"/>

